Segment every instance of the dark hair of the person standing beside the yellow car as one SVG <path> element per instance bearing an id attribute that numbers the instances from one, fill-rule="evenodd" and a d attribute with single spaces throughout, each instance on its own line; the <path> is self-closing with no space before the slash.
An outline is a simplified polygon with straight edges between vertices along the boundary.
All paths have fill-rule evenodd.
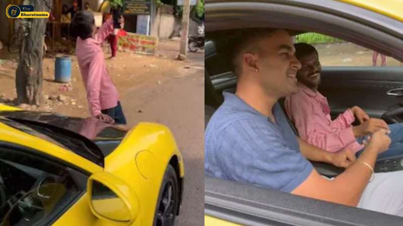
<path id="1" fill-rule="evenodd" d="M 94 15 L 91 11 L 79 11 L 74 15 L 72 21 L 73 33 L 81 39 L 92 37 L 95 24 Z"/>

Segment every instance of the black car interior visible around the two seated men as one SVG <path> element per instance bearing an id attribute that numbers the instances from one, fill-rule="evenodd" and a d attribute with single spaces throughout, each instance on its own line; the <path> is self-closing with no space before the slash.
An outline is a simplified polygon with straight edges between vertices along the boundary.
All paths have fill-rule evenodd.
<path id="1" fill-rule="evenodd" d="M 303 34 L 291 31 L 291 34 Z M 222 92 L 235 93 L 236 77 L 231 71 L 226 38 L 221 34 L 213 36 L 205 44 L 205 126 L 215 110 L 224 101 Z M 220 46 L 222 45 L 222 46 Z M 227 65 L 227 66 L 223 66 Z M 211 71 L 214 74 L 210 74 Z M 403 122 L 403 67 L 322 67 L 319 91 L 327 96 L 332 119 L 354 105 L 362 107 L 371 118 L 379 118 L 387 124 Z M 279 100 L 286 118 L 296 136 L 298 132 L 286 114 L 285 98 Z M 355 122 L 357 125 L 358 122 Z M 334 177 L 344 171 L 331 164 L 311 162 L 324 176 Z M 375 172 L 389 172 L 403 169 L 403 156 L 380 159 Z"/>

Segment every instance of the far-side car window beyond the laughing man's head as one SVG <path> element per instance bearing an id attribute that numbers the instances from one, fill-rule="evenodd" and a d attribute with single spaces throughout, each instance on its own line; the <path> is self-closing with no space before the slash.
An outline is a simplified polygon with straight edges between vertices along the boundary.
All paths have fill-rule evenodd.
<path id="1" fill-rule="evenodd" d="M 392 57 L 319 33 L 299 34 L 295 43 L 315 46 L 322 66 L 403 66 Z"/>

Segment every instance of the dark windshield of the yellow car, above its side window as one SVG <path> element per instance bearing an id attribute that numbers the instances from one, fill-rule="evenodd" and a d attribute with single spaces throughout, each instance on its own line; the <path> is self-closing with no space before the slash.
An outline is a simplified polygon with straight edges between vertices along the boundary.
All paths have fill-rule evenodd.
<path id="1" fill-rule="evenodd" d="M 0 122 L 30 135 L 44 139 L 103 166 L 101 150 L 90 140 L 49 124 L 21 119 L 0 118 Z"/>

